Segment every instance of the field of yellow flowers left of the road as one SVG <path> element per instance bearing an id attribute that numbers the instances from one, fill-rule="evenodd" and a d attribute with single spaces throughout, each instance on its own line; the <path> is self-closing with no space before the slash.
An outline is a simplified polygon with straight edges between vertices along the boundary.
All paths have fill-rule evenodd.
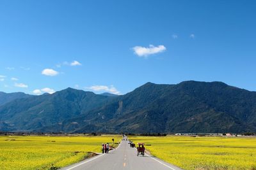
<path id="1" fill-rule="evenodd" d="M 0 136 L 0 169 L 57 169 L 79 162 L 121 136 Z"/>

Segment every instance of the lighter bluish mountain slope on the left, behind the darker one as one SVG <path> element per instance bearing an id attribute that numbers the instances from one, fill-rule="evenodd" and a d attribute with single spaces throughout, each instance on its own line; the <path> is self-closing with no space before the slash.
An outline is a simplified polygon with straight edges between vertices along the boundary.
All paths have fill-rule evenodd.
<path id="1" fill-rule="evenodd" d="M 31 131 L 61 124 L 66 118 L 76 117 L 108 103 L 111 98 L 68 88 L 54 94 L 16 99 L 0 107 L 0 130 Z"/>

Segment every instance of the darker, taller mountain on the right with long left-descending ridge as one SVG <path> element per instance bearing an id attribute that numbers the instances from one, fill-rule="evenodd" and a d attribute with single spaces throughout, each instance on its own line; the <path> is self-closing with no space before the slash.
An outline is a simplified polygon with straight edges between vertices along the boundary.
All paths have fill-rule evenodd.
<path id="1" fill-rule="evenodd" d="M 146 83 L 110 104 L 40 131 L 255 132 L 256 93 L 221 82 Z"/>

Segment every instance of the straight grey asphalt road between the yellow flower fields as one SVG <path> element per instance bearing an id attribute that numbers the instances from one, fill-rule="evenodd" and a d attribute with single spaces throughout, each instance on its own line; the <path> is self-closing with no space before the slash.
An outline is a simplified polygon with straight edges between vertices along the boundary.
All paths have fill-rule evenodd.
<path id="1" fill-rule="evenodd" d="M 147 148 L 146 148 L 147 149 Z M 176 170 L 180 169 L 171 164 L 163 162 L 162 160 L 145 155 L 145 157 L 137 156 L 137 151 L 131 148 L 128 141 L 122 141 L 122 143 L 116 148 L 116 150 L 110 153 L 104 153 L 92 157 L 91 159 L 84 160 L 77 164 L 73 164 L 68 167 L 64 167 L 61 170 L 120 170 L 120 169 L 131 169 L 131 170 Z"/>

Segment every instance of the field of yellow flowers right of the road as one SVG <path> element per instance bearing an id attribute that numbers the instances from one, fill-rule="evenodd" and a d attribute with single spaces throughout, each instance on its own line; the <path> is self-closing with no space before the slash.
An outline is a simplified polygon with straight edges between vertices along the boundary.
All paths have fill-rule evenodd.
<path id="1" fill-rule="evenodd" d="M 129 139 L 145 143 L 152 155 L 183 169 L 256 169 L 256 138 L 130 136 Z"/>

